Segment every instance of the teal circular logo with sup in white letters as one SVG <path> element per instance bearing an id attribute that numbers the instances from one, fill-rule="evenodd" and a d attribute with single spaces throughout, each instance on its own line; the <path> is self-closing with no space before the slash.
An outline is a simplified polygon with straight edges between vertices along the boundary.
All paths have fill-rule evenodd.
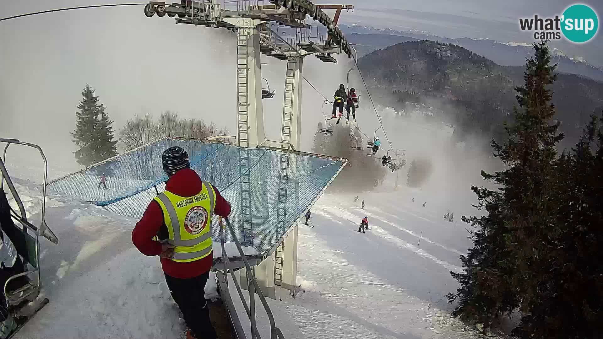
<path id="1" fill-rule="evenodd" d="M 582 43 L 592 39 L 599 28 L 597 13 L 587 5 L 577 4 L 563 12 L 561 31 L 571 42 Z"/>

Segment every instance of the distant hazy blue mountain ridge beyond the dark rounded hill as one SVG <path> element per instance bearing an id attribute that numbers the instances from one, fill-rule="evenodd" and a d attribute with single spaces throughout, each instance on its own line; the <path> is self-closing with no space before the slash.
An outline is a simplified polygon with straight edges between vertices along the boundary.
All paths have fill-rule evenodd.
<path id="1" fill-rule="evenodd" d="M 411 40 L 433 40 L 441 43 L 453 43 L 482 55 L 501 66 L 522 66 L 526 58 L 532 56 L 531 45 L 526 43 L 497 42 L 490 39 L 450 39 L 435 36 L 425 31 L 396 31 L 391 29 L 380 30 L 374 27 L 361 25 L 339 25 L 346 33 L 349 42 L 358 43 L 358 54 L 366 55 L 376 49 L 383 49 L 396 43 Z M 374 41 L 373 41 L 374 40 Z M 405 41 L 403 41 L 405 40 Z M 590 65 L 583 58 L 567 57 L 562 51 L 552 51 L 553 62 L 558 63 L 558 72 L 578 74 L 597 81 L 603 81 L 603 69 Z"/>

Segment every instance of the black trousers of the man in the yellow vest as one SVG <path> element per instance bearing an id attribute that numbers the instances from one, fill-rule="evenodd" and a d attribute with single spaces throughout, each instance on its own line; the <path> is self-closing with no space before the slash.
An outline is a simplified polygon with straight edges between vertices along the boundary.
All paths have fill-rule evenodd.
<path id="1" fill-rule="evenodd" d="M 215 339 L 216 331 L 209 320 L 209 308 L 205 300 L 205 284 L 209 272 L 189 279 L 180 279 L 165 274 L 172 298 L 184 315 L 192 335 L 199 339 Z"/>

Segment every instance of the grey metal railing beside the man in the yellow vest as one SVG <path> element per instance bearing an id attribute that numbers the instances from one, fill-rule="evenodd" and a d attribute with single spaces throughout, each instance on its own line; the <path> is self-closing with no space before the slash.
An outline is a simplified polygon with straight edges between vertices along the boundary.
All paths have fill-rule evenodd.
<path id="1" fill-rule="evenodd" d="M 232 239 L 235 241 L 236 248 L 239 250 L 239 255 L 241 255 L 241 259 L 245 264 L 245 269 L 247 269 L 247 285 L 249 287 L 249 305 L 247 305 L 247 302 L 245 302 L 245 297 L 243 296 L 243 291 L 241 290 L 239 281 L 236 279 L 235 271 L 231 268 L 230 259 L 228 258 L 226 249 L 224 249 L 224 227 L 220 221 L 220 223 L 219 223 L 220 242 L 221 242 L 221 246 L 222 246 L 222 263 L 224 265 L 223 271 L 225 273 L 224 276 L 225 276 L 225 280 L 227 281 L 226 274 L 230 273 L 230 276 L 232 277 L 232 280 L 235 283 L 236 290 L 239 293 L 239 297 L 241 297 L 241 302 L 243 304 L 243 307 L 245 308 L 245 312 L 247 313 L 247 317 L 249 318 L 249 321 L 251 323 L 251 339 L 262 339 L 262 337 L 259 334 L 259 331 L 257 331 L 257 326 L 256 326 L 256 297 L 255 297 L 256 293 L 260 299 L 260 302 L 264 306 L 264 310 L 266 311 L 266 314 L 268 315 L 268 320 L 270 321 L 270 339 L 277 339 L 277 338 L 285 339 L 283 332 L 280 331 L 280 329 L 276 327 L 276 323 L 274 322 L 274 315 L 272 314 L 272 311 L 270 310 L 270 306 L 268 306 L 268 302 L 266 301 L 266 298 L 264 297 L 264 293 L 262 293 L 262 289 L 260 288 L 260 285 L 257 284 L 256 277 L 253 276 L 253 271 L 251 270 L 251 265 L 249 264 L 249 261 L 247 260 L 247 256 L 245 256 L 245 253 L 243 252 L 241 244 L 239 243 L 239 241 L 236 237 L 235 230 L 230 225 L 230 221 L 228 218 L 224 218 L 224 220 L 226 220 L 226 225 L 228 226 L 228 228 L 230 230 L 230 235 L 232 235 Z M 237 327 L 236 324 L 235 324 L 235 327 Z M 240 328 L 240 326 L 239 326 L 239 328 Z M 239 338 L 239 339 L 244 339 L 244 338 Z"/>

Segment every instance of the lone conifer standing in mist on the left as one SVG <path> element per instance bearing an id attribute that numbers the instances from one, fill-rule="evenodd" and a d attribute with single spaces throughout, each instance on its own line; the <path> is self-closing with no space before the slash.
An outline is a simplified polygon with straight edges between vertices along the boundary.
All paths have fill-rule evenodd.
<path id="1" fill-rule="evenodd" d="M 90 166 L 117 155 L 116 143 L 113 141 L 113 121 L 94 95 L 94 89 L 86 84 L 81 92 L 82 100 L 78 105 L 75 130 L 71 133 L 73 142 L 79 149 L 74 152 L 80 165 Z"/>

